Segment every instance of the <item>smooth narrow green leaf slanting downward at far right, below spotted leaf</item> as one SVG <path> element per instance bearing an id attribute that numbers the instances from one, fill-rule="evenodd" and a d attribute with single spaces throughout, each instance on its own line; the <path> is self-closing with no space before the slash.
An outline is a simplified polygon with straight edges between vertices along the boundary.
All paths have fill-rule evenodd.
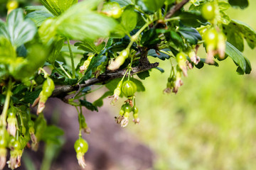
<path id="1" fill-rule="evenodd" d="M 226 55 L 232 58 L 235 64 L 242 69 L 242 72 L 249 74 L 251 71 L 250 62 L 247 60 L 236 47 L 234 47 L 230 42 L 226 42 Z"/>

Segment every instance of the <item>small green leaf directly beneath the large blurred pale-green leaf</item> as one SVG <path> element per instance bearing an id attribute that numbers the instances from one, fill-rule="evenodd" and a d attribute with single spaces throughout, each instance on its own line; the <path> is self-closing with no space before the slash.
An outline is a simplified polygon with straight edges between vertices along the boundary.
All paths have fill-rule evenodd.
<path id="1" fill-rule="evenodd" d="M 77 46 L 79 50 L 99 54 L 100 51 L 105 47 L 105 42 L 96 46 L 92 40 L 83 40 L 82 42 L 76 42 L 75 46 Z"/>

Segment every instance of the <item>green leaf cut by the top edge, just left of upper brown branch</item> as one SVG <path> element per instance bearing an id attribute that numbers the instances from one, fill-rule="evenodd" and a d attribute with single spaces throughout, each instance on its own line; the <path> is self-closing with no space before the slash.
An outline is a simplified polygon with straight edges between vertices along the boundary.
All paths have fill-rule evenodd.
<path id="1" fill-rule="evenodd" d="M 139 0 L 137 4 L 143 11 L 154 13 L 164 5 L 165 0 Z"/>

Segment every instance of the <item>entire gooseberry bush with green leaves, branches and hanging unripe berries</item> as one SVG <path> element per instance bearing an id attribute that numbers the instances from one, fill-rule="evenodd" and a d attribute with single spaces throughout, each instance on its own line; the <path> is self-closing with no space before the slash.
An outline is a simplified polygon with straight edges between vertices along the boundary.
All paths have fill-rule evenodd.
<path id="1" fill-rule="evenodd" d="M 0 21 L 0 169 L 21 165 L 24 149 L 56 140 L 62 130 L 47 125 L 43 110 L 48 98 L 60 98 L 78 111 L 80 130 L 75 142 L 78 163 L 85 168 L 90 133 L 82 106 L 97 111 L 103 99 L 124 98 L 115 117 L 121 127 L 139 123 L 137 91 L 150 77 L 151 57 L 170 63 L 164 93 L 177 93 L 188 69 L 218 66 L 230 57 L 238 74 L 250 74 L 242 54 L 244 39 L 255 48 L 256 33 L 230 18 L 228 8 L 246 8 L 247 0 L 41 0 L 42 6 L 7 4 Z M 206 55 L 198 56 L 202 46 Z M 105 86 L 108 91 L 90 103 L 86 96 Z M 160 91 L 161 92 L 161 91 Z M 137 96 L 139 97 L 139 95 Z M 33 112 L 33 108 L 37 107 Z M 9 161 L 6 161 L 10 152 Z"/>

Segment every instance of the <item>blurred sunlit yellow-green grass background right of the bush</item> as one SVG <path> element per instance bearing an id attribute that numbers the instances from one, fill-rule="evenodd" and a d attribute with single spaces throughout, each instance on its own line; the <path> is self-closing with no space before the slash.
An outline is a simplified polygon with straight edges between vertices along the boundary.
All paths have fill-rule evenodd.
<path id="1" fill-rule="evenodd" d="M 255 8 L 251 0 L 245 10 L 230 8 L 228 14 L 256 30 Z M 256 169 L 255 52 L 246 44 L 250 75 L 238 75 L 228 58 L 219 67 L 190 70 L 176 95 L 162 93 L 169 62 L 160 62 L 164 74 L 152 70 L 146 91 L 137 94 L 141 123 L 128 128 L 156 152 L 154 169 Z"/>

